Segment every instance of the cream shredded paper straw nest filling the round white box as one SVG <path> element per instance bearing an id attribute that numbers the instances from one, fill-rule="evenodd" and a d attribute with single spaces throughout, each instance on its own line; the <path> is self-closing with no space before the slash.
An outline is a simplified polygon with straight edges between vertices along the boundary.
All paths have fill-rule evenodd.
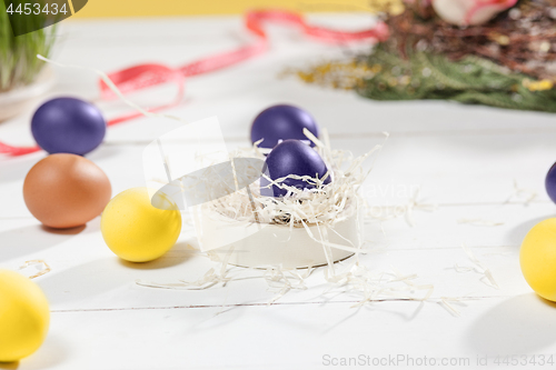
<path id="1" fill-rule="evenodd" d="M 262 173 L 270 184 L 287 190 L 281 198 L 265 197 L 260 194 L 259 181 L 248 188 L 232 192 L 217 201 L 210 202 L 214 217 L 226 217 L 236 221 L 248 221 L 259 223 L 282 224 L 289 228 L 305 228 L 318 224 L 334 227 L 335 223 L 345 220 L 357 212 L 361 198 L 358 189 L 367 178 L 370 170 L 365 171 L 363 163 L 380 146 L 375 147 L 368 153 L 355 158 L 347 150 L 332 150 L 329 144 L 328 134 L 324 130 L 324 141 L 312 136 L 308 130 L 305 134 L 315 143 L 316 151 L 327 164 L 328 172 L 321 177 L 290 174 L 285 178 L 271 180 L 268 174 Z M 252 148 L 239 149 L 231 154 L 232 158 L 259 158 L 265 160 L 256 142 Z M 324 181 L 330 177 L 331 181 Z M 298 189 L 286 184 L 286 179 L 304 180 L 315 184 L 314 189 Z M 330 228 L 330 230 L 334 230 Z M 349 240 L 346 242 L 350 243 Z M 335 247 L 335 246 L 331 246 Z M 353 246 L 354 252 L 360 246 Z M 344 248 L 341 248 L 344 249 Z"/>

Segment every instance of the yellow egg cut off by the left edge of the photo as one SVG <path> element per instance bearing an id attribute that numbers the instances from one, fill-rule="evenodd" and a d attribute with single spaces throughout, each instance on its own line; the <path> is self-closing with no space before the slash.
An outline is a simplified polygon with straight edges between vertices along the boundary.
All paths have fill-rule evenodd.
<path id="1" fill-rule="evenodd" d="M 49 322 L 42 290 L 17 272 L 0 270 L 0 362 L 19 361 L 38 350 Z"/>

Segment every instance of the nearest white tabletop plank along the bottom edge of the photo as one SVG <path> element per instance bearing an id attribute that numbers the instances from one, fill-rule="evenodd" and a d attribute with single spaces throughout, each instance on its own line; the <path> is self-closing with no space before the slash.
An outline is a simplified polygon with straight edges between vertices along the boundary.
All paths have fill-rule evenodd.
<path id="1" fill-rule="evenodd" d="M 556 352 L 554 304 L 520 294 L 465 306 L 459 318 L 419 302 L 54 312 L 47 342 L 19 369 L 318 369 L 327 354 L 468 358 L 455 368 L 485 369 L 477 356 L 498 368 L 498 354 Z"/>

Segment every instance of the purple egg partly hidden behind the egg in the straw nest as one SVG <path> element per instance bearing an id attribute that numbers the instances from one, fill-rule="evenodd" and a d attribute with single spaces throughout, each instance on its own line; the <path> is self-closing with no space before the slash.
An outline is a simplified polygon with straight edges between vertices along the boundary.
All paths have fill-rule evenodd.
<path id="1" fill-rule="evenodd" d="M 264 139 L 259 148 L 272 149 L 280 141 L 298 139 L 314 147 L 315 143 L 304 134 L 304 129 L 318 138 L 317 122 L 309 112 L 294 106 L 274 106 L 255 118 L 251 126 L 251 142 Z"/>

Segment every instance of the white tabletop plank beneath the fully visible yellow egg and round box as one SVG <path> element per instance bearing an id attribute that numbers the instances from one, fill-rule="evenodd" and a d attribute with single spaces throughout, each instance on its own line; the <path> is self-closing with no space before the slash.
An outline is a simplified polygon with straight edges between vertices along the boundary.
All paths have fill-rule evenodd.
<path id="1" fill-rule="evenodd" d="M 383 228 L 370 224 L 367 238 L 371 241 L 371 253 L 361 257 L 361 263 L 376 274 L 391 273 L 394 270 L 403 274 L 416 273 L 419 284 L 435 286 L 435 298 L 529 292 L 530 288 L 519 271 L 518 250 L 528 228 L 538 220 L 534 218 L 523 222 L 522 218 L 514 214 L 524 214 L 525 210 L 538 214 L 543 206 L 498 208 L 496 219 L 507 223 L 496 228 L 461 226 L 456 221 L 461 213 L 487 208 L 451 207 L 440 208 L 430 214 L 416 212 L 416 228 L 410 228 L 403 220 L 387 221 Z M 513 217 L 503 218 L 504 214 Z M 446 221 L 449 219 L 451 222 Z M 195 233 L 187 224 L 178 244 L 168 254 L 146 264 L 126 263 L 113 256 L 102 241 L 98 219 L 77 234 L 48 232 L 32 219 L 4 220 L 2 226 L 6 230 L 0 230 L 0 267 L 16 269 L 27 260 L 44 260 L 52 271 L 37 279 L 37 282 L 46 291 L 53 310 L 266 303 L 276 294 L 267 291 L 268 286 L 262 279 L 235 281 L 226 289 L 217 287 L 206 291 L 173 291 L 137 286 L 137 280 L 157 283 L 195 281 L 211 267 L 217 267 L 208 259 L 195 256 L 189 247 L 196 246 Z M 484 274 L 459 271 L 459 268 L 476 267 L 461 249 L 464 243 L 492 271 L 500 289 L 489 287 Z M 342 271 L 351 262 L 348 260 L 338 268 Z M 322 272 L 319 269 L 308 279 L 308 290 L 294 291 L 280 301 L 318 302 L 331 299 L 356 302 L 361 299 L 357 292 L 340 294 L 342 289 L 334 289 L 331 293 L 325 294 L 330 284 L 326 283 Z M 232 276 L 260 277 L 261 273 L 236 269 Z"/>

